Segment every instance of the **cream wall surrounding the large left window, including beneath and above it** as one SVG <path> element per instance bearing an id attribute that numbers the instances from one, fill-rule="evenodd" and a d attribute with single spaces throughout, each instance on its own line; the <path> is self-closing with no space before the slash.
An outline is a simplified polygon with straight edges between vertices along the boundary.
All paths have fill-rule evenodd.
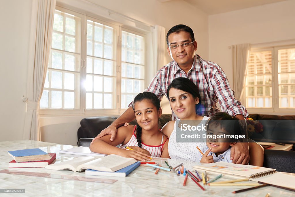
<path id="1" fill-rule="evenodd" d="M 67 0 L 58 2 L 63 1 Z M 161 3 L 157 0 L 93 0 L 93 2 L 150 25 L 163 26 L 166 31 L 173 25 L 189 25 L 198 41 L 198 54 L 208 58 L 208 16 L 185 1 Z M 25 105 L 21 99 L 22 95 L 27 93 L 31 4 L 32 0 L 0 2 L 0 141 L 22 139 Z M 172 15 L 171 11 L 175 9 L 179 11 Z M 165 58 L 171 61 L 168 55 Z M 80 120 L 85 117 L 83 115 L 41 117 L 42 141 L 76 145 Z"/>

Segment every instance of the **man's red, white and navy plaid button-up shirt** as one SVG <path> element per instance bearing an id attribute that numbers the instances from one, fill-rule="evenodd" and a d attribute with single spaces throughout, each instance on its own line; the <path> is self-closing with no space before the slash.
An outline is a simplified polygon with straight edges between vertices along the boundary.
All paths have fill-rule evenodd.
<path id="1" fill-rule="evenodd" d="M 155 78 L 151 81 L 150 85 L 145 92 L 153 92 L 162 100 L 163 95 L 167 97 L 167 88 L 178 77 L 185 77 L 190 79 L 199 88 L 201 95 L 201 107 L 196 111 L 201 116 L 211 117 L 216 112 L 217 101 L 219 102 L 222 111 L 231 116 L 241 114 L 248 116 L 248 112 L 241 102 L 235 99 L 230 84 L 223 70 L 217 64 L 203 60 L 200 56 L 195 55 L 195 61 L 191 66 L 191 70 L 186 74 L 175 61 L 163 66 L 158 70 Z M 168 99 L 169 100 L 169 99 Z M 129 107 L 132 106 L 132 102 Z M 172 111 L 173 120 L 178 117 Z"/>

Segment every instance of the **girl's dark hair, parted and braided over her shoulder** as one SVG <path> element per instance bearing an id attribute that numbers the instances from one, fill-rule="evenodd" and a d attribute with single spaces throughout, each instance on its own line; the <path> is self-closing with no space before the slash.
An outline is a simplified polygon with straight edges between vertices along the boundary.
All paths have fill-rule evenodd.
<path id="1" fill-rule="evenodd" d="M 155 107 L 157 108 L 157 110 L 160 109 L 160 100 L 158 99 L 158 97 L 152 93 L 152 92 L 142 92 L 139 93 L 138 95 L 136 95 L 136 97 L 133 100 L 133 104 L 132 104 L 132 109 L 134 110 L 134 105 L 136 102 L 140 102 L 142 100 L 149 100 L 153 105 L 155 105 Z M 136 140 L 137 140 L 137 145 L 138 147 L 141 148 L 141 127 L 138 125 L 136 126 Z"/>

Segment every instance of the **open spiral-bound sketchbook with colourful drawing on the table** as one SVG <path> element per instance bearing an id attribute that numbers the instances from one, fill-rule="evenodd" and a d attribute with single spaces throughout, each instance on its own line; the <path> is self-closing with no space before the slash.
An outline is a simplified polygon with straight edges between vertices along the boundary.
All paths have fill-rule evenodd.
<path id="1" fill-rule="evenodd" d="M 295 191 L 295 176 L 276 172 L 272 168 L 216 162 L 194 166 L 194 169 L 218 172 L 228 176 L 234 175 L 237 178 L 245 177 L 258 183 L 268 183 L 274 187 Z"/>

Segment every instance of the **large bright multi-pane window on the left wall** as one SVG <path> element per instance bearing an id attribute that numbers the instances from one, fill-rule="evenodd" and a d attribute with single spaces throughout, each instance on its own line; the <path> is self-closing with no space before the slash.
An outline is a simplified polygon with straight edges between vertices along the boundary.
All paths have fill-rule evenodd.
<path id="1" fill-rule="evenodd" d="M 41 114 L 118 114 L 144 90 L 144 34 L 57 6 L 52 36 Z"/>

